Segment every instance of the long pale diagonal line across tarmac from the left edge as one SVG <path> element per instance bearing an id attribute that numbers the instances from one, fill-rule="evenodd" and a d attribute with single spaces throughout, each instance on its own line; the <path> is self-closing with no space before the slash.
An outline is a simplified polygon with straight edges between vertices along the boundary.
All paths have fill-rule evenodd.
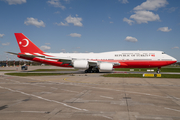
<path id="1" fill-rule="evenodd" d="M 42 100 L 45 100 L 45 101 L 58 103 L 58 104 L 61 104 L 61 105 L 64 105 L 64 106 L 66 106 L 66 107 L 73 108 L 73 109 L 76 109 L 76 110 L 88 111 L 88 110 L 86 110 L 86 109 L 81 109 L 81 108 L 78 108 L 78 107 L 74 107 L 74 106 L 65 104 L 65 103 L 63 103 L 63 102 L 59 102 L 59 101 L 56 101 L 56 100 L 46 99 L 46 98 L 43 98 L 43 97 L 41 97 L 41 96 L 37 96 L 37 95 L 33 95 L 33 94 L 28 94 L 28 93 L 25 93 L 25 92 L 22 92 L 22 91 L 19 91 L 19 90 L 13 90 L 13 89 L 10 89 L 10 88 L 7 88 L 7 87 L 2 87 L 2 86 L 0 86 L 0 88 L 1 88 L 1 89 L 6 89 L 6 90 L 9 90 L 9 91 L 12 91 L 12 92 L 18 92 L 18 93 L 21 93 L 21 94 L 24 94 L 24 95 L 27 95 L 27 96 L 33 96 L 33 97 L 36 97 L 36 98 L 39 98 L 39 99 L 42 99 Z"/>

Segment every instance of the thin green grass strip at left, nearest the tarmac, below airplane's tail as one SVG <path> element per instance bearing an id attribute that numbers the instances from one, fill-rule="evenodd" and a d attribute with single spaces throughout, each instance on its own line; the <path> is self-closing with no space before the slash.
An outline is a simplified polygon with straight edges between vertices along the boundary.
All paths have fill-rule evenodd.
<path id="1" fill-rule="evenodd" d="M 67 75 L 67 73 L 5 73 L 5 75 L 14 75 L 14 76 L 49 76 L 49 75 Z"/>

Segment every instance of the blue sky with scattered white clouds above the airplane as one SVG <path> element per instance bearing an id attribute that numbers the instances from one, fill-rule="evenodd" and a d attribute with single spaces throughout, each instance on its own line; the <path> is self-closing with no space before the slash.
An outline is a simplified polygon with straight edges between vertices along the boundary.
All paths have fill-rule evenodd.
<path id="1" fill-rule="evenodd" d="M 14 33 L 44 52 L 158 50 L 180 62 L 180 0 L 0 0 L 0 60 Z"/>

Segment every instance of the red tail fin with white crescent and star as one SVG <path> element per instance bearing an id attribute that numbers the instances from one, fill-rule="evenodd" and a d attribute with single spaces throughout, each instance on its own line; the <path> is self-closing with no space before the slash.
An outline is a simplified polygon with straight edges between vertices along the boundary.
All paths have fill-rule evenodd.
<path id="1" fill-rule="evenodd" d="M 14 33 L 21 53 L 44 53 L 22 33 Z"/>

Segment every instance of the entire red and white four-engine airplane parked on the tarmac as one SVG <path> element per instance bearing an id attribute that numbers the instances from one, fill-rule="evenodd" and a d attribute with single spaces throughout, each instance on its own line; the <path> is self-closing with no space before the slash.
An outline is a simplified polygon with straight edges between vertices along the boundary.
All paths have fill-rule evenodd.
<path id="1" fill-rule="evenodd" d="M 177 60 L 163 51 L 112 51 L 102 53 L 46 53 L 22 33 L 14 33 L 20 53 L 7 52 L 17 57 L 59 67 L 83 69 L 85 73 L 113 71 L 114 68 L 155 68 Z"/>

